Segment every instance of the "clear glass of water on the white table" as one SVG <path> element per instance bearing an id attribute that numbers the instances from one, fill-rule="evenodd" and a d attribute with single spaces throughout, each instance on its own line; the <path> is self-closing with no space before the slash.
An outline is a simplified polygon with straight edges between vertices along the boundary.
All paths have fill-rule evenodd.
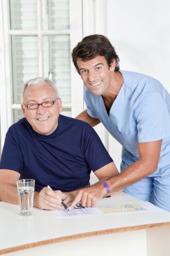
<path id="1" fill-rule="evenodd" d="M 17 181 L 17 193 L 19 199 L 19 214 L 32 215 L 34 203 L 35 180 L 21 179 Z"/>

